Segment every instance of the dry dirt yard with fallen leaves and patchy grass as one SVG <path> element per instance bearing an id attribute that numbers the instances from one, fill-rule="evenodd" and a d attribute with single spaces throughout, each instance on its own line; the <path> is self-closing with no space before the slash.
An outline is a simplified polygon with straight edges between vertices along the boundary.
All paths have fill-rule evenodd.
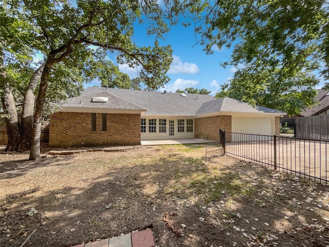
<path id="1" fill-rule="evenodd" d="M 329 245 L 328 186 L 219 149 L 205 158 L 206 147 L 0 154 L 0 245 L 71 246 L 148 227 L 159 247 Z"/>

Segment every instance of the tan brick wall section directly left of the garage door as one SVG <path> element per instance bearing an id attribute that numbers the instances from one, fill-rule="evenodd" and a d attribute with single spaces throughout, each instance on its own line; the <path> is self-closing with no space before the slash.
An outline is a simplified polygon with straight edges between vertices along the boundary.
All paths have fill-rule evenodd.
<path id="1" fill-rule="evenodd" d="M 232 131 L 232 116 L 219 115 L 212 117 L 195 118 L 195 138 L 219 140 L 220 128 Z"/>

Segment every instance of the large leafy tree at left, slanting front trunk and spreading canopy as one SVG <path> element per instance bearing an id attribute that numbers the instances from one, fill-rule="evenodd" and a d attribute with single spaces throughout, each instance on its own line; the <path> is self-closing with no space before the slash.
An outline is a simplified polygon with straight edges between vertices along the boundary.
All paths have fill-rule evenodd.
<path id="1" fill-rule="evenodd" d="M 2 54 L 13 57 L 19 55 L 20 48 L 12 49 L 13 45 L 19 44 L 23 48 L 26 47 L 29 57 L 33 52 L 39 52 L 44 56 L 44 63 L 36 67 L 30 77 L 25 93 L 26 99 L 23 102 L 24 104 L 30 102 L 27 108 L 32 109 L 32 114 L 29 111 L 29 117 L 33 118 L 30 132 L 32 139 L 30 160 L 40 157 L 42 115 L 47 101 L 50 78 L 57 64 L 63 63 L 67 66 L 86 64 L 90 56 L 94 55 L 96 46 L 117 52 L 119 63 L 130 66 L 142 65 L 139 77 L 150 89 L 157 89 L 169 80 L 165 73 L 172 61 L 172 50 L 170 46 L 159 46 L 158 38 L 168 31 L 168 26 L 163 21 L 167 16 L 166 13 L 169 13 L 169 17 L 172 16 L 156 1 L 12 0 L 5 1 L 1 10 L 5 19 L 19 22 L 12 25 L 8 21 L 2 28 L 2 30 L 9 29 L 0 37 L 5 44 Z M 154 38 L 152 47 L 138 46 L 134 43 L 136 21 L 147 24 L 147 33 Z M 20 40 L 19 36 L 23 36 L 22 33 L 27 35 Z M 4 68 L 2 79 L 9 78 L 6 69 L 8 66 L 12 63 L 21 63 L 16 60 L 13 62 L 2 59 L 1 64 Z M 34 83 L 39 79 L 39 84 Z M 14 114 L 8 111 L 6 106 L 8 102 L 13 102 L 12 89 L 15 83 L 9 79 L 3 81 L 6 81 L 5 90 L 2 91 L 4 110 L 8 114 Z M 37 87 L 38 91 L 35 91 Z M 27 111 L 27 108 L 23 112 Z"/>

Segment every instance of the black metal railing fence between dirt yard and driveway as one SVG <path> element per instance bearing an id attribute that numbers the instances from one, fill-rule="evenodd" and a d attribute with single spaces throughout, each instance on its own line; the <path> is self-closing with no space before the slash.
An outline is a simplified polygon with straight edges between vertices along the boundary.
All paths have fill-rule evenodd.
<path id="1" fill-rule="evenodd" d="M 240 160 L 329 184 L 329 141 L 220 130 L 223 151 Z"/>

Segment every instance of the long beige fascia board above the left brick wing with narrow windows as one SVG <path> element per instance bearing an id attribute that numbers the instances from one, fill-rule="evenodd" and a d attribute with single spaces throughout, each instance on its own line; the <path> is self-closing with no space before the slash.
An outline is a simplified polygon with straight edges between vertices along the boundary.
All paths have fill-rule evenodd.
<path id="1" fill-rule="evenodd" d="M 138 109 L 108 109 L 91 107 L 64 107 L 59 112 L 88 112 L 88 113 L 124 113 L 124 114 L 143 114 L 146 110 Z"/>

